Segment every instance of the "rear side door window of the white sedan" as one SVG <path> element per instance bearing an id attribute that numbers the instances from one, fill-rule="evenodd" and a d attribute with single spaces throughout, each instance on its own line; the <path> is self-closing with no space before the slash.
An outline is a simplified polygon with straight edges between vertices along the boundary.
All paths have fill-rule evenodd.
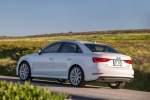
<path id="1" fill-rule="evenodd" d="M 81 49 L 74 43 L 65 43 L 61 49 L 62 53 L 82 53 Z"/>

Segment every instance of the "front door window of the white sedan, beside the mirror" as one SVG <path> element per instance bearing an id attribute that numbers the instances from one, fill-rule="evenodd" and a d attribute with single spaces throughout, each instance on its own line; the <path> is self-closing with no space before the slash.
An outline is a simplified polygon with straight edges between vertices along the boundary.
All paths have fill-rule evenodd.
<path id="1" fill-rule="evenodd" d="M 47 47 L 45 47 L 42 51 L 43 53 L 56 53 L 58 52 L 61 44 L 61 42 L 50 44 Z"/>

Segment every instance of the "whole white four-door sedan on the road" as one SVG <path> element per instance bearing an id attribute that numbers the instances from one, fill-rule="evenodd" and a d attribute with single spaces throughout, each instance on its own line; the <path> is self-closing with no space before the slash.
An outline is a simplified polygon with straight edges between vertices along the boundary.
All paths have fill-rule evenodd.
<path id="1" fill-rule="evenodd" d="M 16 67 L 20 79 L 34 77 L 68 80 L 82 87 L 87 81 L 106 82 L 111 88 L 122 88 L 134 78 L 131 57 L 102 43 L 56 41 L 36 53 L 21 57 Z"/>

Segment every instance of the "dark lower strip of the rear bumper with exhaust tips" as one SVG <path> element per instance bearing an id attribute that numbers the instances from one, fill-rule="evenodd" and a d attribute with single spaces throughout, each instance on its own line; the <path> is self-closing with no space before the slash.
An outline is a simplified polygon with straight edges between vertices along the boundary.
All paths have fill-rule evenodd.
<path id="1" fill-rule="evenodd" d="M 131 82 L 133 80 L 132 77 L 110 77 L 110 76 L 100 76 L 97 78 L 97 81 L 101 82 Z"/>

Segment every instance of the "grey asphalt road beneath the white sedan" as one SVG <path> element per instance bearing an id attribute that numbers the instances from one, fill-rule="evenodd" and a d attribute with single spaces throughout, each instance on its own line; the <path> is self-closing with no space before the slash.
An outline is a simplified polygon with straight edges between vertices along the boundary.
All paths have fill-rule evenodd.
<path id="1" fill-rule="evenodd" d="M 0 76 L 0 80 L 7 82 L 20 82 L 18 77 Z M 61 84 L 55 81 L 34 79 L 31 84 L 49 87 L 53 92 L 62 92 L 77 100 L 150 100 L 150 92 L 111 89 L 109 87 L 85 86 L 84 88 L 72 87 L 70 84 Z"/>

